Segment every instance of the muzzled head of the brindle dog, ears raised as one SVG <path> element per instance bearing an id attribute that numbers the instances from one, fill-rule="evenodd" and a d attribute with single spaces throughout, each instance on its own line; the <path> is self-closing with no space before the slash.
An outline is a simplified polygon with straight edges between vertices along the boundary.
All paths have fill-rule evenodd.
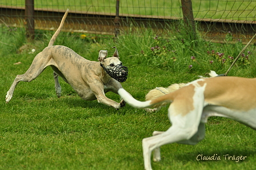
<path id="1" fill-rule="evenodd" d="M 118 80 L 118 82 L 125 82 L 128 76 L 128 68 L 122 65 L 122 62 L 119 60 L 119 54 L 117 47 L 112 57 L 107 57 L 107 50 L 99 51 L 99 62 L 101 67 L 111 76 L 111 78 Z"/>

